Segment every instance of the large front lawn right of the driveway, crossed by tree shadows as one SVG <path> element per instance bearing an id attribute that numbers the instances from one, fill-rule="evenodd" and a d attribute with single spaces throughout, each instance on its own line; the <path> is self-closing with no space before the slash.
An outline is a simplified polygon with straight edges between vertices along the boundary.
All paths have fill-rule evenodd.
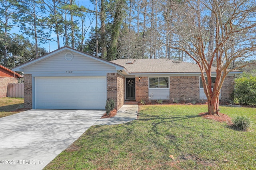
<path id="1" fill-rule="evenodd" d="M 256 169 L 256 108 L 220 107 L 249 117 L 247 132 L 200 117 L 205 105 L 140 108 L 138 120 L 90 127 L 45 169 Z"/>

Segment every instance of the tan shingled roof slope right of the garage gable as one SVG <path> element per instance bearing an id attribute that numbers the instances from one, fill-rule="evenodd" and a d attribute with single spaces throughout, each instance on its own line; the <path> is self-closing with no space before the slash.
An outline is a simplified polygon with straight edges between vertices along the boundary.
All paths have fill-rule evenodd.
<path id="1" fill-rule="evenodd" d="M 170 59 L 118 59 L 112 63 L 124 66 L 129 73 L 199 73 L 198 64 L 179 62 Z M 212 67 L 216 72 L 216 67 Z M 234 70 L 232 73 L 242 73 Z"/>

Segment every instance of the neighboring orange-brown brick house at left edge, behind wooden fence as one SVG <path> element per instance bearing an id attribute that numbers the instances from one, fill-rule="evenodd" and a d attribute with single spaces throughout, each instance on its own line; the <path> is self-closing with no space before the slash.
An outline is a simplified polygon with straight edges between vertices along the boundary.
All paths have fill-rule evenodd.
<path id="1" fill-rule="evenodd" d="M 18 78 L 22 78 L 22 75 L 0 65 L 0 98 L 7 97 L 8 84 L 18 83 Z"/>

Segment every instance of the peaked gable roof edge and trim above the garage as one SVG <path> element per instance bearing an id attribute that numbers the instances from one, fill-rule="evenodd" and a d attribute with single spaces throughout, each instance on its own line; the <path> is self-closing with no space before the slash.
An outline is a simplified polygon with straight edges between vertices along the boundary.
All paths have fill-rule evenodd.
<path id="1" fill-rule="evenodd" d="M 28 61 L 28 62 L 23 63 L 23 64 L 20 64 L 20 65 L 18 65 L 18 66 L 16 66 L 16 67 L 12 68 L 12 70 L 14 70 L 14 71 L 23 71 L 23 68 L 25 68 L 25 67 L 27 67 L 27 66 L 30 66 L 30 65 L 32 65 L 32 64 L 35 64 L 35 63 L 38 63 L 38 62 L 43 61 L 43 60 L 45 60 L 45 59 L 48 59 L 49 57 L 52 57 L 53 55 L 56 55 L 56 54 L 58 54 L 58 53 L 61 53 L 61 52 L 63 52 L 63 51 L 66 51 L 66 50 L 69 50 L 69 51 L 74 52 L 74 53 L 79 53 L 79 54 L 81 54 L 81 55 L 84 55 L 84 56 L 89 57 L 89 58 L 91 58 L 91 59 L 94 59 L 94 60 L 96 60 L 96 61 L 100 61 L 100 62 L 102 62 L 102 63 L 105 63 L 105 64 L 108 64 L 108 65 L 114 66 L 114 67 L 116 67 L 116 70 L 125 70 L 125 68 L 124 68 L 123 66 L 121 66 L 121 65 L 118 65 L 118 64 L 116 64 L 116 63 L 112 63 L 112 62 L 110 62 L 110 61 L 106 61 L 106 60 L 101 59 L 101 58 L 99 58 L 99 57 L 95 57 L 95 56 L 90 55 L 90 54 L 88 54 L 88 53 L 85 53 L 85 52 L 83 52 L 83 51 L 79 51 L 79 50 L 76 50 L 76 49 L 73 49 L 73 48 L 70 48 L 70 47 L 67 47 L 67 46 L 61 47 L 60 49 L 57 49 L 57 50 L 55 50 L 55 51 L 52 51 L 52 52 L 47 53 L 47 54 L 45 54 L 45 55 L 42 55 L 41 57 L 32 59 L 31 61 Z"/>

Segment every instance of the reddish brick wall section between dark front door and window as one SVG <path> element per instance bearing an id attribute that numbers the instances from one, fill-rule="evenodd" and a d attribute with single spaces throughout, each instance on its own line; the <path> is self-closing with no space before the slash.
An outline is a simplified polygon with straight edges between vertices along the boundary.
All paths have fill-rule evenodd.
<path id="1" fill-rule="evenodd" d="M 135 77 L 135 99 L 140 102 L 142 99 L 148 99 L 148 77 Z"/>

